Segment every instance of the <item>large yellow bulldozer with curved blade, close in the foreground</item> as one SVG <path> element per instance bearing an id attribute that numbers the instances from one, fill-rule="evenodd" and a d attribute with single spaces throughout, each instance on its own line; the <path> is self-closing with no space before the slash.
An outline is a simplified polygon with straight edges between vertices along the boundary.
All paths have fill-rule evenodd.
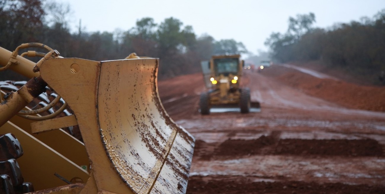
<path id="1" fill-rule="evenodd" d="M 42 57 L 37 63 L 18 55 L 32 47 L 47 50 L 21 54 Z M 0 47 L 0 65 L 31 78 L 20 88 L 0 86 L 0 193 L 186 192 L 194 137 L 161 104 L 158 59 L 63 58 L 26 43 L 13 52 Z M 47 90 L 54 100 L 38 106 Z M 64 130 L 71 126 L 82 141 Z"/>

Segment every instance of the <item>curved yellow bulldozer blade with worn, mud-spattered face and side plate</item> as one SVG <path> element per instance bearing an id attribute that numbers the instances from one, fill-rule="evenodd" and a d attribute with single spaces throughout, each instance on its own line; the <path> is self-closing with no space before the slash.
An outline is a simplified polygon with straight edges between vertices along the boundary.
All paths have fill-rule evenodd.
<path id="1" fill-rule="evenodd" d="M 91 163 L 84 193 L 185 193 L 194 138 L 164 111 L 157 59 L 49 59 L 43 79 L 69 104 Z"/>

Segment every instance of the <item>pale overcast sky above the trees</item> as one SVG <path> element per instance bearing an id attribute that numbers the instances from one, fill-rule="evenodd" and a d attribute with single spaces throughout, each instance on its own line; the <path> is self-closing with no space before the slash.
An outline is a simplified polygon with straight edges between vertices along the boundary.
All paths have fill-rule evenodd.
<path id="1" fill-rule="evenodd" d="M 272 32 L 285 33 L 288 18 L 315 13 L 315 27 L 372 18 L 385 8 L 385 0 L 57 0 L 69 3 L 73 14 L 70 27 L 75 31 L 79 19 L 87 32 L 129 30 L 140 18 L 156 23 L 174 17 L 191 25 L 199 36 L 207 33 L 215 40 L 242 42 L 257 53 L 267 50 L 264 41 Z"/>

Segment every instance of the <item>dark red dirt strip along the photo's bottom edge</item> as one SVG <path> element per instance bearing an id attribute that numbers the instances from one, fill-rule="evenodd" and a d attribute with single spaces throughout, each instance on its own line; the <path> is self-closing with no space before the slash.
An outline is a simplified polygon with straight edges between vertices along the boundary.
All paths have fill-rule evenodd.
<path id="1" fill-rule="evenodd" d="M 341 183 L 319 184 L 315 182 L 278 181 L 254 182 L 246 177 L 208 177 L 192 176 L 189 178 L 186 194 L 212 193 L 295 193 L 295 194 L 383 194 L 384 186 L 348 185 Z M 215 180 L 218 179 L 218 180 Z"/>

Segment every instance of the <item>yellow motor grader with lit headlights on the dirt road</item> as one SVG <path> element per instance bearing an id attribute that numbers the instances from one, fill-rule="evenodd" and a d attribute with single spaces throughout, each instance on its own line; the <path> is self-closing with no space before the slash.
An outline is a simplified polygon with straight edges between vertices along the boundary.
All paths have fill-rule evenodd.
<path id="1" fill-rule="evenodd" d="M 201 62 L 204 82 L 209 89 L 200 96 L 201 114 L 210 114 L 213 108 L 237 107 L 241 113 L 260 109 L 259 102 L 251 102 L 250 89 L 240 87 L 244 67 L 244 61 L 240 57 L 240 55 L 216 55 L 209 61 Z"/>

